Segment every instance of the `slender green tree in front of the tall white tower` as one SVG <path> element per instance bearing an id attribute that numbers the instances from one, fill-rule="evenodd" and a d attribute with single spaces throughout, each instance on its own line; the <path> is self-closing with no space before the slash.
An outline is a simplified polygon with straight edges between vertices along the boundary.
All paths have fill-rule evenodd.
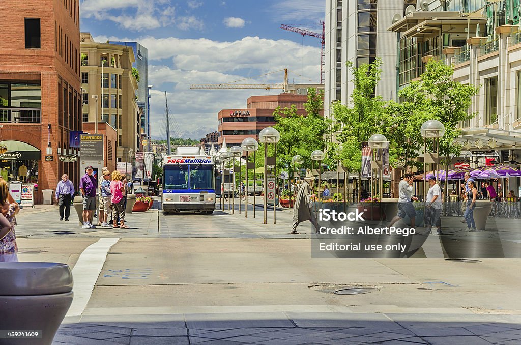
<path id="1" fill-rule="evenodd" d="M 380 80 L 381 60 L 355 67 L 346 63 L 353 76 L 354 89 L 350 105 L 333 104 L 333 117 L 339 126 L 337 140 L 342 144 L 338 156 L 350 172 L 358 172 L 358 190 L 361 190 L 362 150 L 361 143 L 375 133 L 386 135 L 388 118 L 382 97 L 375 95 Z M 359 196 L 360 194 L 358 194 Z"/>

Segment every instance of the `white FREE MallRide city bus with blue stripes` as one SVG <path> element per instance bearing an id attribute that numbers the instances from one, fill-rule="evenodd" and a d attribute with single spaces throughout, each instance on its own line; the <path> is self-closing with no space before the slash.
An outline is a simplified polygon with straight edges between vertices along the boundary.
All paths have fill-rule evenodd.
<path id="1" fill-rule="evenodd" d="M 163 214 L 215 210 L 215 175 L 212 157 L 197 147 L 180 146 L 176 155 L 163 160 Z"/>

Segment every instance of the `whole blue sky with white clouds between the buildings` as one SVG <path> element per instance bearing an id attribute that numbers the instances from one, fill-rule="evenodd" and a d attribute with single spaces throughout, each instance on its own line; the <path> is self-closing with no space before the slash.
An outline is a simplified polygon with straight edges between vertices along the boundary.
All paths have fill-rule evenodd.
<path id="1" fill-rule="evenodd" d="M 165 91 L 176 130 L 184 132 L 216 130 L 219 110 L 244 108 L 251 95 L 278 93 L 190 90 L 191 84 L 230 82 L 284 67 L 295 72 L 290 82 L 319 82 L 319 39 L 279 27 L 321 31 L 325 0 L 81 0 L 80 14 L 80 30 L 96 41 L 137 41 L 148 49 L 153 136 L 165 130 Z M 279 72 L 243 83 L 282 78 Z"/>

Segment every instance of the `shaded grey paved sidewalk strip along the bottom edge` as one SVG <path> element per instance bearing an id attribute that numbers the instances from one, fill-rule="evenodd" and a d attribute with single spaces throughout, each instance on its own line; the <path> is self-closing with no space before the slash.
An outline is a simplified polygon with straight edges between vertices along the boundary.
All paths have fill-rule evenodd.
<path id="1" fill-rule="evenodd" d="M 515 345 L 519 315 L 258 312 L 82 317 L 53 344 Z"/>

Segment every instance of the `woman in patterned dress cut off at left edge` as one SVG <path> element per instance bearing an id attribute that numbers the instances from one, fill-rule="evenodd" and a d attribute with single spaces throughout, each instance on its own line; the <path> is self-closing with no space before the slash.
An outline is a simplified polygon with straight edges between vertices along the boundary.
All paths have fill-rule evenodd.
<path id="1" fill-rule="evenodd" d="M 0 179 L 0 262 L 18 261 L 18 245 L 16 244 L 15 215 L 20 210 L 18 203 L 9 194 L 7 182 Z M 6 221 L 8 224 L 6 224 Z M 5 233 L 5 235 L 4 235 Z"/>

